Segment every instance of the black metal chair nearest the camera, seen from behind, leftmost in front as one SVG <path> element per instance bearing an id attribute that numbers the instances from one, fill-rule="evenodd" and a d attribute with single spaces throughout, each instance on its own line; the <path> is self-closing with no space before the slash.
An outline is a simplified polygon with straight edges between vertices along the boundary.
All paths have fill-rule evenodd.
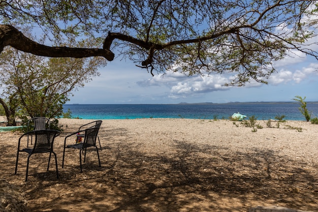
<path id="1" fill-rule="evenodd" d="M 51 154 L 53 153 L 54 156 L 55 156 L 56 176 L 58 178 L 57 158 L 56 158 L 56 154 L 53 151 L 53 142 L 54 142 L 55 137 L 58 136 L 59 134 L 60 134 L 60 132 L 57 131 L 57 130 L 37 130 L 37 131 L 30 131 L 30 132 L 24 133 L 19 138 L 17 160 L 16 160 L 16 164 L 15 164 L 15 172 L 14 172 L 14 174 L 17 173 L 18 159 L 19 159 L 19 153 L 20 152 L 28 153 L 27 163 L 26 163 L 25 181 L 27 181 L 27 174 L 28 174 L 30 156 L 33 155 L 33 154 L 39 154 L 39 153 L 50 153 L 49 162 L 48 162 L 48 165 L 47 165 L 47 171 L 48 171 L 49 170 L 49 165 L 50 165 L 50 160 L 51 160 Z M 25 137 L 25 136 L 29 136 L 29 135 L 33 135 L 35 137 L 35 139 L 34 139 L 35 142 L 34 142 L 33 148 L 20 149 L 22 138 Z"/>

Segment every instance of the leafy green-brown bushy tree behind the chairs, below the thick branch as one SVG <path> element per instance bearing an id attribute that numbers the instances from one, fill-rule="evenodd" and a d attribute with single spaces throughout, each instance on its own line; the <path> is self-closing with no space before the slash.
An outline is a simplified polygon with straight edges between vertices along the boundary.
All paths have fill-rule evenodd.
<path id="1" fill-rule="evenodd" d="M 11 111 L 7 117 L 62 116 L 72 92 L 99 76 L 97 68 L 104 62 L 100 57 L 47 58 L 6 48 L 0 55 L 0 85 L 8 100 L 1 103 Z"/>

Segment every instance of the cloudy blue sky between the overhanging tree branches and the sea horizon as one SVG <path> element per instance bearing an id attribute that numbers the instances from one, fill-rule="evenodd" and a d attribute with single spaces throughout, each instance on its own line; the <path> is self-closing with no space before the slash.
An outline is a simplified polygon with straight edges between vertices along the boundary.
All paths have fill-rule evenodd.
<path id="1" fill-rule="evenodd" d="M 187 77 L 168 72 L 152 77 L 146 70 L 119 59 L 99 70 L 71 97 L 69 104 L 177 104 L 249 101 L 292 101 L 295 96 L 318 101 L 318 62 L 297 52 L 274 64 L 277 73 L 268 84 L 249 83 L 245 87 L 225 87 L 229 76 Z"/>

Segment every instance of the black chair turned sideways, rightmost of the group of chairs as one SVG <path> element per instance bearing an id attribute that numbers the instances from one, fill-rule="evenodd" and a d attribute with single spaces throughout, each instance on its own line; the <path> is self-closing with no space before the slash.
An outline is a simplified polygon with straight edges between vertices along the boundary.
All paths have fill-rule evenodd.
<path id="1" fill-rule="evenodd" d="M 100 161 L 100 155 L 98 152 L 98 147 L 96 146 L 96 139 L 98 137 L 98 132 L 99 132 L 100 128 L 97 127 L 93 127 L 93 128 L 87 128 L 85 130 L 81 130 L 75 133 L 72 133 L 68 136 L 65 137 L 64 140 L 64 149 L 63 149 L 63 161 L 62 161 L 62 168 L 64 167 L 64 157 L 65 157 L 65 149 L 66 148 L 74 148 L 74 149 L 79 149 L 79 158 L 80 158 L 80 169 L 81 172 L 82 171 L 82 152 L 85 150 L 85 154 L 84 154 L 84 163 L 85 163 L 85 159 L 86 159 L 86 149 L 88 147 L 95 147 L 96 148 L 96 152 L 97 152 L 97 157 L 98 157 L 98 162 L 99 165 L 101 167 L 101 161 Z M 71 145 L 66 145 L 66 141 L 68 138 L 74 138 L 72 137 L 73 135 L 76 135 L 78 133 L 84 133 L 84 141 L 82 143 L 76 143 L 76 144 L 71 144 Z M 74 140 L 73 140 L 74 142 Z"/>

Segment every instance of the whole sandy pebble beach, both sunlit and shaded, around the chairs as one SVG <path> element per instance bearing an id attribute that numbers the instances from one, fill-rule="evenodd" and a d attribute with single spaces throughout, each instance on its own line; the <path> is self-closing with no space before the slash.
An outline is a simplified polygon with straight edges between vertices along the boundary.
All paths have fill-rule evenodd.
<path id="1" fill-rule="evenodd" d="M 28 211 L 248 211 L 257 205 L 318 208 L 318 125 L 258 120 L 263 128 L 232 120 L 103 120 L 99 132 L 102 167 L 87 150 L 83 172 L 78 150 L 66 135 L 87 119 L 59 119 L 64 131 L 48 156 L 26 154 L 14 174 L 21 133 L 1 133 L 2 178 L 22 189 Z M 254 131 L 254 132 L 253 132 Z M 73 141 L 72 141 L 73 142 Z M 74 138 L 75 142 L 75 138 Z"/>

